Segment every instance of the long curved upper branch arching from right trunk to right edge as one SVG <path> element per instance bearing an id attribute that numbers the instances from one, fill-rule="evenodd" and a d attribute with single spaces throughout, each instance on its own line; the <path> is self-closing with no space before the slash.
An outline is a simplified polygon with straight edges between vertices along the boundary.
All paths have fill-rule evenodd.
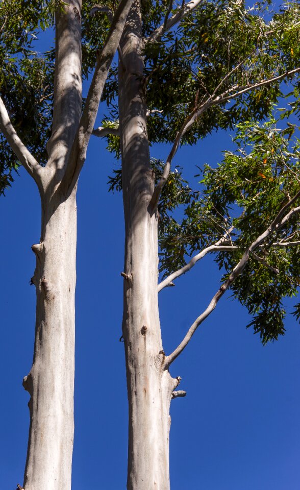
<path id="1" fill-rule="evenodd" d="M 165 185 L 169 173 L 170 173 L 170 168 L 171 168 L 171 162 L 173 157 L 176 155 L 176 152 L 179 148 L 180 142 L 182 137 L 185 135 L 185 133 L 190 129 L 190 127 L 194 124 L 196 119 L 205 111 L 207 111 L 210 107 L 222 104 L 224 102 L 228 102 L 232 99 L 236 99 L 239 95 L 242 95 L 243 93 L 249 92 L 251 90 L 255 90 L 256 88 L 263 87 L 265 85 L 270 85 L 273 82 L 277 82 L 280 80 L 283 80 L 284 78 L 290 77 L 292 75 L 295 75 L 296 73 L 300 72 L 300 67 L 295 68 L 294 70 L 289 70 L 285 71 L 282 75 L 278 75 L 277 77 L 272 77 L 266 80 L 261 80 L 258 83 L 255 84 L 247 84 L 243 86 L 239 85 L 234 85 L 230 89 L 222 92 L 219 95 L 216 95 L 215 92 L 213 92 L 213 95 L 210 95 L 205 102 L 199 103 L 196 107 L 193 108 L 193 110 L 188 114 L 186 117 L 183 125 L 181 126 L 180 130 L 178 131 L 176 138 L 174 140 L 173 146 L 171 148 L 171 151 L 168 155 L 168 158 L 166 160 L 164 170 L 161 176 L 160 181 L 156 185 L 151 201 L 149 203 L 149 212 L 152 214 L 155 212 L 158 202 L 159 202 L 159 197 L 161 194 L 161 191 L 163 189 L 163 186 Z M 219 86 L 221 83 L 219 84 Z"/>

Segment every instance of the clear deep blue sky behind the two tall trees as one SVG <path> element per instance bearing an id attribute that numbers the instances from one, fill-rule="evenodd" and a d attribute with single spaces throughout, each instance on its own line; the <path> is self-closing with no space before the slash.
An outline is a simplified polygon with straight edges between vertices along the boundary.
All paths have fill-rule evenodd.
<path id="1" fill-rule="evenodd" d="M 187 176 L 195 165 L 220 161 L 228 134 L 214 134 L 179 151 Z M 153 149 L 165 158 L 167 148 Z M 123 212 L 121 195 L 108 193 L 115 162 L 94 138 L 78 190 L 76 389 L 72 490 L 126 488 L 127 393 L 122 317 Z M 22 378 L 32 364 L 35 289 L 29 285 L 40 237 L 34 182 L 20 169 L 0 199 L 2 262 L 2 373 L 0 488 L 22 483 L 29 428 L 29 395 Z M 166 353 L 176 347 L 219 285 L 212 257 L 174 288 L 160 293 Z M 300 488 L 300 327 L 262 347 L 246 330 L 246 311 L 223 298 L 173 363 L 184 399 L 171 403 L 172 490 L 298 490 Z M 45 489 L 46 490 L 46 489 Z M 142 489 L 141 489 L 142 490 Z"/>

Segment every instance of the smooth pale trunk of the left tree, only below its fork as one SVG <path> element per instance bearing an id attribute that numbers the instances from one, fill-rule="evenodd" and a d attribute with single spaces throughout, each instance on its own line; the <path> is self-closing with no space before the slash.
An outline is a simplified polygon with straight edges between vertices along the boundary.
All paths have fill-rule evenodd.
<path id="1" fill-rule="evenodd" d="M 42 234 L 32 246 L 36 269 L 36 331 L 30 393 L 26 490 L 69 490 L 73 449 L 76 190 L 42 210 Z"/>

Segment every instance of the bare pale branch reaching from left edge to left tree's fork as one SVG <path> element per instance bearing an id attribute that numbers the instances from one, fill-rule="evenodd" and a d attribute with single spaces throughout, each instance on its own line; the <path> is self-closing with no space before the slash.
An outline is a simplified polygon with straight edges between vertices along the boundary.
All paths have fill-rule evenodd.
<path id="1" fill-rule="evenodd" d="M 9 118 L 8 112 L 4 105 L 2 98 L 0 97 L 0 129 L 6 137 L 12 151 L 16 154 L 19 161 L 24 168 L 28 171 L 29 175 L 34 178 L 39 188 L 41 188 L 41 173 L 42 167 L 36 161 L 34 156 L 30 153 L 28 148 L 23 144 L 23 142 L 18 137 L 11 120 Z"/>

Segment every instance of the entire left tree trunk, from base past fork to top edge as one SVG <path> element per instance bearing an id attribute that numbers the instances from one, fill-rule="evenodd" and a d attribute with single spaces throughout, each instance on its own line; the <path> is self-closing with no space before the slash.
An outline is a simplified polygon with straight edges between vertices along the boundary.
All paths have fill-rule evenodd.
<path id="1" fill-rule="evenodd" d="M 36 269 L 33 364 L 23 386 L 30 393 L 30 429 L 23 487 L 70 490 L 73 450 L 74 296 L 77 183 L 60 183 L 81 117 L 81 1 L 56 13 L 56 63 L 52 136 L 40 190 L 40 243 Z"/>

